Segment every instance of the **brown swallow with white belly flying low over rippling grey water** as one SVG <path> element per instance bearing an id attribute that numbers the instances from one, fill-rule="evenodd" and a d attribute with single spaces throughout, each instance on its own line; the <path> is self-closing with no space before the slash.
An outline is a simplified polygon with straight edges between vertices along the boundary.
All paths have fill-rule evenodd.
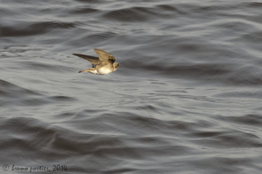
<path id="1" fill-rule="evenodd" d="M 115 63 L 115 57 L 100 49 L 94 49 L 98 57 L 83 55 L 83 54 L 73 54 L 92 63 L 92 68 L 79 71 L 79 73 L 89 72 L 92 74 L 105 75 L 115 71 L 119 64 Z"/>

